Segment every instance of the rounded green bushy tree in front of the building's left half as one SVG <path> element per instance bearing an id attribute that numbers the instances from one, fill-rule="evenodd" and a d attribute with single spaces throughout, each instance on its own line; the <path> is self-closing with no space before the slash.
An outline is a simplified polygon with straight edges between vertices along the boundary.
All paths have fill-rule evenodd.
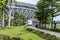
<path id="1" fill-rule="evenodd" d="M 25 17 L 18 12 L 15 12 L 14 19 L 12 19 L 11 24 L 15 25 L 22 25 L 24 23 Z"/>

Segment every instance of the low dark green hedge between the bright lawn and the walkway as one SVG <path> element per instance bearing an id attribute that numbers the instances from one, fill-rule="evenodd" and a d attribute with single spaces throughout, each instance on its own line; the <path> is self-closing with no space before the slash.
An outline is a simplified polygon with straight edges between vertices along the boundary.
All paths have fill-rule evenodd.
<path id="1" fill-rule="evenodd" d="M 27 28 L 27 31 L 33 32 L 36 35 L 38 35 L 39 37 L 42 37 L 46 40 L 59 40 L 56 36 L 54 35 L 50 35 L 50 34 L 46 34 L 44 32 L 41 32 L 39 30 L 35 30 L 35 29 L 31 29 L 31 28 Z"/>

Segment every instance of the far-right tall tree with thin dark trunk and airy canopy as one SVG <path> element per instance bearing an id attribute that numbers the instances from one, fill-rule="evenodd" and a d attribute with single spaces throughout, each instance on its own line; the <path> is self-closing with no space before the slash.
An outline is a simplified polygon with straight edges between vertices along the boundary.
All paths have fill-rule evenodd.
<path id="1" fill-rule="evenodd" d="M 45 2 L 47 2 L 49 5 L 49 10 L 50 10 L 50 16 L 52 17 L 52 25 L 51 28 L 53 28 L 53 18 L 55 16 L 60 15 L 60 13 L 58 14 L 58 12 L 60 12 L 59 7 L 60 7 L 60 3 L 57 3 L 58 0 L 44 0 Z"/>

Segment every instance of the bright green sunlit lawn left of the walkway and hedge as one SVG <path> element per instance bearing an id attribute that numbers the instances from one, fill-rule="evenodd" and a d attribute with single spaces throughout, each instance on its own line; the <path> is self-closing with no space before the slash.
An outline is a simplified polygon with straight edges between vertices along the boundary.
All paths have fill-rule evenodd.
<path id="1" fill-rule="evenodd" d="M 0 34 L 7 35 L 10 37 L 21 37 L 24 40 L 44 40 L 43 38 L 40 38 L 36 34 L 27 31 L 24 26 L 20 27 L 11 27 L 11 29 L 0 29 Z"/>

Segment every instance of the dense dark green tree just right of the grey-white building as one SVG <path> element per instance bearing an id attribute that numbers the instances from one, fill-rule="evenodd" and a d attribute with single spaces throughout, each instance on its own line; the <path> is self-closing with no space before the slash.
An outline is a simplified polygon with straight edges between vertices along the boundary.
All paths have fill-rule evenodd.
<path id="1" fill-rule="evenodd" d="M 48 3 L 46 3 L 45 1 L 39 1 L 37 3 L 37 8 L 38 10 L 36 11 L 36 17 L 42 21 L 45 22 L 45 27 L 46 27 L 46 19 L 48 18 L 48 13 L 49 13 L 49 9 L 47 9 L 48 7 Z"/>

